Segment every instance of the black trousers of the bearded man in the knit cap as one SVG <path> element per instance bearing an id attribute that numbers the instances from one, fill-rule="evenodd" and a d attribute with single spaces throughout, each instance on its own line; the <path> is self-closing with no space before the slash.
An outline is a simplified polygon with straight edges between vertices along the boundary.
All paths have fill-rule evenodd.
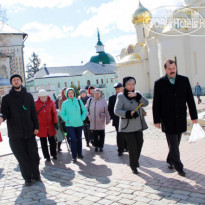
<path id="1" fill-rule="evenodd" d="M 9 139 L 11 150 L 16 157 L 24 180 L 40 176 L 38 147 L 35 137 L 22 140 Z"/>

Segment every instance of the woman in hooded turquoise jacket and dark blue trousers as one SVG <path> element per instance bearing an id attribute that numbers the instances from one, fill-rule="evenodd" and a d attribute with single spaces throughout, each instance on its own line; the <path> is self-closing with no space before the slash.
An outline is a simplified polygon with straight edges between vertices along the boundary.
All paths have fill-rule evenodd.
<path id="1" fill-rule="evenodd" d="M 65 121 L 71 138 L 71 152 L 73 162 L 83 158 L 82 155 L 82 128 L 86 118 L 86 108 L 81 100 L 76 98 L 73 88 L 66 90 L 67 100 L 63 102 L 60 116 Z"/>

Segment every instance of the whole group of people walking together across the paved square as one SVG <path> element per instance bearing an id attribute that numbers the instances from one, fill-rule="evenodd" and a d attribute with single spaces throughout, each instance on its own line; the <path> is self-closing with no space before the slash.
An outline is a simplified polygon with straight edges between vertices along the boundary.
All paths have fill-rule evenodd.
<path id="1" fill-rule="evenodd" d="M 175 168 L 179 175 L 185 176 L 180 160 L 179 144 L 182 133 L 186 131 L 187 105 L 193 123 L 197 123 L 197 110 L 189 79 L 177 74 L 176 62 L 167 60 L 164 65 L 165 76 L 155 82 L 153 95 L 153 119 L 157 128 L 165 132 L 169 153 L 167 163 Z M 22 86 L 22 78 L 14 74 L 10 78 L 12 88 L 2 99 L 0 124 L 7 120 L 8 136 L 11 149 L 19 162 L 26 185 L 40 181 L 39 155 L 35 136 L 40 138 L 43 156 L 50 161 L 50 155 L 57 159 L 55 135 L 58 117 L 55 103 L 45 90 L 40 90 L 38 100 Z M 105 125 L 113 120 L 116 129 L 118 156 L 124 151 L 129 153 L 130 168 L 138 174 L 139 158 L 143 146 L 143 131 L 148 128 L 143 107 L 149 101 L 135 90 L 134 77 L 125 77 L 122 84 L 114 85 L 116 94 L 107 104 L 102 92 L 90 86 L 80 90 L 77 97 L 73 88 L 64 88 L 58 101 L 62 120 L 61 128 L 67 134 L 71 144 L 73 162 L 83 159 L 82 130 L 86 145 L 94 146 L 95 152 L 103 152 Z M 187 105 L 186 105 L 187 104 Z M 50 154 L 48 142 L 50 144 Z"/>

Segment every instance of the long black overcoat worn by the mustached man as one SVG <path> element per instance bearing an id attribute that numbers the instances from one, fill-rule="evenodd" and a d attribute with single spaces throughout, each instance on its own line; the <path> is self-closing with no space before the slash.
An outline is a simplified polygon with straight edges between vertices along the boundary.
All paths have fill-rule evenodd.
<path id="1" fill-rule="evenodd" d="M 178 134 L 187 130 L 187 105 L 191 119 L 198 119 L 196 105 L 189 79 L 177 75 L 172 85 L 167 76 L 157 80 L 154 85 L 153 118 L 161 123 L 162 131 Z"/>

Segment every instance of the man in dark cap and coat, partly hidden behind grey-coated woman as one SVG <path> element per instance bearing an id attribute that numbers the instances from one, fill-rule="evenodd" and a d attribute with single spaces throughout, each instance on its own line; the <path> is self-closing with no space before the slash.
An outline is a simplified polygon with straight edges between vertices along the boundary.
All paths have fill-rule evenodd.
<path id="1" fill-rule="evenodd" d="M 118 147 L 118 156 L 122 156 L 123 152 L 127 150 L 126 141 L 124 139 L 123 133 L 119 132 L 119 117 L 114 113 L 114 107 L 116 103 L 117 94 L 123 91 L 123 85 L 121 83 L 115 83 L 115 95 L 109 97 L 108 101 L 108 111 L 110 114 L 110 118 L 112 120 L 112 126 L 115 127 L 117 133 L 117 147 Z"/>

